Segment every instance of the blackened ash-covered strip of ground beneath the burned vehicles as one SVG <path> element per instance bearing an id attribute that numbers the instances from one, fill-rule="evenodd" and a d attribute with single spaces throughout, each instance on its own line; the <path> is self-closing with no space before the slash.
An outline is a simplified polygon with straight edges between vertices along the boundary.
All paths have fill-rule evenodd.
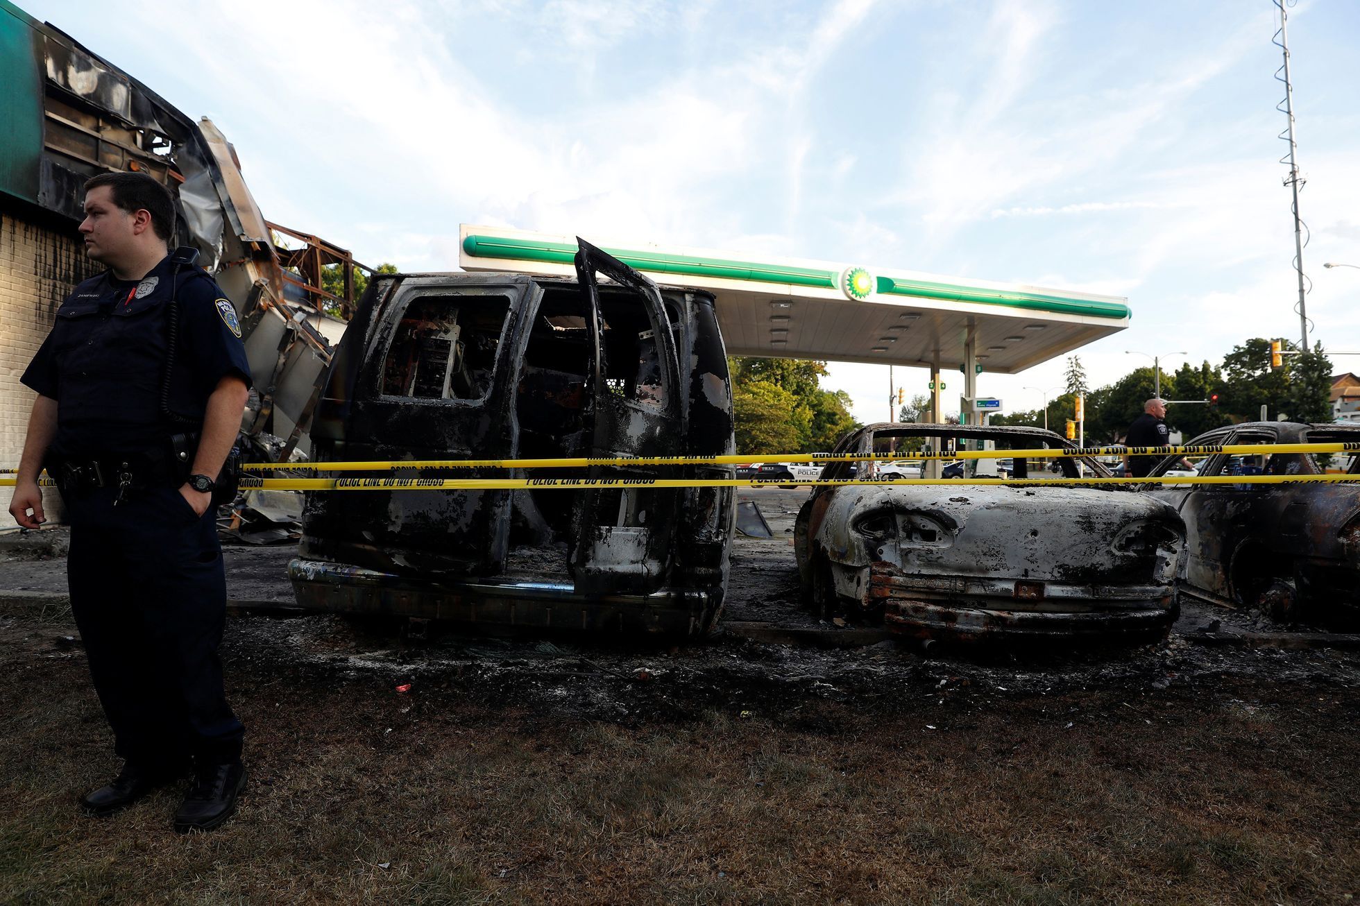
<path id="1" fill-rule="evenodd" d="M 256 609 L 243 609 L 228 622 L 223 654 L 228 669 L 316 680 L 386 677 L 394 686 L 434 686 L 484 705 L 514 703 L 620 722 L 684 718 L 714 707 L 796 717 L 816 702 L 925 707 L 922 713 L 947 722 L 979 707 L 1004 709 L 1015 697 L 1085 690 L 1122 695 L 1130 699 L 1123 705 L 1137 707 L 1137 699 L 1159 695 L 1204 694 L 1231 703 L 1239 680 L 1257 697 L 1273 686 L 1300 684 L 1349 697 L 1360 686 L 1360 656 L 1353 652 L 1191 641 L 1214 623 L 1262 628 L 1259 619 L 1216 608 L 1186 607 L 1167 642 L 1137 648 L 923 652 L 895 639 L 838 646 L 840 633 L 858 642 L 864 631 L 821 623 L 798 604 L 792 529 L 805 494 L 777 488 L 744 494 L 759 502 L 774 537 L 737 539 L 724 627 L 700 642 L 500 638 L 439 626 L 413 641 L 393 622 L 268 614 L 258 608 L 292 601 L 284 573 L 292 548 L 228 546 L 228 597 Z M 0 562 L 0 600 L 8 601 L 5 635 L 11 645 L 39 657 L 79 646 L 58 605 L 65 570 L 57 541 L 44 548 L 11 539 Z M 31 603 L 26 607 L 26 600 L 46 600 L 37 622 L 38 611 Z M 751 626 L 774 627 L 774 637 L 783 628 L 817 630 L 821 643 L 759 641 L 770 634 L 745 631 Z"/>

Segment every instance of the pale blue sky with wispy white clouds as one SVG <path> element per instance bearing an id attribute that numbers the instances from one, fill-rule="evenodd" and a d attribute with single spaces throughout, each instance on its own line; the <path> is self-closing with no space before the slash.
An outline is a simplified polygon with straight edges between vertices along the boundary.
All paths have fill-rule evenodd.
<path id="1" fill-rule="evenodd" d="M 18 3 L 367 264 L 452 269 L 464 222 L 1129 297 L 1093 385 L 1299 333 L 1269 0 Z M 1360 351 L 1360 269 L 1322 268 L 1360 265 L 1360 4 L 1300 1 L 1289 44 L 1308 314 Z M 885 415 L 885 367 L 831 385 Z"/>

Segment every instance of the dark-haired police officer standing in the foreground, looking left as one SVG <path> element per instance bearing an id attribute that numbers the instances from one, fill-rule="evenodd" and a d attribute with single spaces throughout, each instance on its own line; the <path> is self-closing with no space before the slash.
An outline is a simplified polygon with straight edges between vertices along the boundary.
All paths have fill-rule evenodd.
<path id="1" fill-rule="evenodd" d="M 192 773 L 178 831 L 209 830 L 245 784 L 245 729 L 218 646 L 226 581 L 212 497 L 250 371 L 235 309 L 192 249 L 170 253 L 159 182 L 86 182 L 86 253 L 107 271 L 75 288 L 23 382 L 37 390 L 10 513 L 44 521 L 38 472 L 71 524 L 71 609 L 124 759 L 82 797 L 109 815 Z"/>

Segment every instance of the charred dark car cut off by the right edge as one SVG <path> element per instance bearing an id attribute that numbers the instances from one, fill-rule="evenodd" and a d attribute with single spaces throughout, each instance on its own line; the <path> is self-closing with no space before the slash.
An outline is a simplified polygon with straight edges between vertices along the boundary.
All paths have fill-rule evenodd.
<path id="1" fill-rule="evenodd" d="M 1190 445 L 1337 442 L 1360 442 L 1360 426 L 1248 422 Z M 1179 464 L 1180 457 L 1168 457 L 1152 475 Z M 1357 483 L 1151 486 L 1148 494 L 1175 506 L 1186 522 L 1182 590 L 1285 622 L 1360 626 L 1360 456 L 1219 453 L 1200 464 L 1200 473 L 1316 475 L 1329 467 L 1356 475 Z"/>

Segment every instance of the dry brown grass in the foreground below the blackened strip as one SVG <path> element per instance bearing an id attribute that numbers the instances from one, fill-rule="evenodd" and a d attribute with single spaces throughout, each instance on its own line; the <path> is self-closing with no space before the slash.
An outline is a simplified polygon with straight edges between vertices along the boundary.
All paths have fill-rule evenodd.
<path id="1" fill-rule="evenodd" d="M 910 709 L 815 702 L 796 717 L 627 728 L 238 664 L 252 784 L 222 830 L 178 837 L 169 790 L 106 820 L 75 811 L 113 769 L 79 656 L 3 667 L 3 902 L 1360 892 L 1356 702 L 1336 690 L 1273 688 L 1254 707 L 1035 697 L 947 731 Z"/>

